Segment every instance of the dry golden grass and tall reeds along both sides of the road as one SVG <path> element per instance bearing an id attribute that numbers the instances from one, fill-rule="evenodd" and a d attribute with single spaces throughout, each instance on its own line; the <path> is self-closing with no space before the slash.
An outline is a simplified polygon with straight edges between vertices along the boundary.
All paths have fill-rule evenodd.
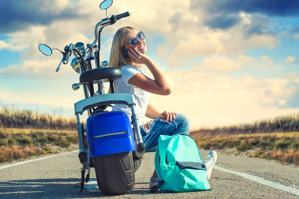
<path id="1" fill-rule="evenodd" d="M 299 114 L 247 124 L 201 128 L 199 148 L 299 165 Z M 0 109 L 0 162 L 78 148 L 76 120 L 15 108 Z"/>

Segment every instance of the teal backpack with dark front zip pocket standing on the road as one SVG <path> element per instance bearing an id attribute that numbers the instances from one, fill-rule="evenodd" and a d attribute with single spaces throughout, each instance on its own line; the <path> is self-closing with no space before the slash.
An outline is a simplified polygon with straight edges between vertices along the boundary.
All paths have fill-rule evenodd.
<path id="1" fill-rule="evenodd" d="M 159 164 L 160 159 L 160 164 Z M 196 192 L 211 190 L 207 169 L 201 161 L 194 139 L 187 134 L 160 135 L 154 166 L 158 186 L 145 194 L 157 192 Z"/>

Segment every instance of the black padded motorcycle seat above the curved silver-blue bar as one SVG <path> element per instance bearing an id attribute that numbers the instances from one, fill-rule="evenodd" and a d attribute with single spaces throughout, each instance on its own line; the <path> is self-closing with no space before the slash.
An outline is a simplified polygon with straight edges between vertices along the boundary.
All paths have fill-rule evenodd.
<path id="1" fill-rule="evenodd" d="M 96 68 L 85 71 L 80 75 L 80 83 L 93 83 L 98 84 L 102 82 L 109 82 L 110 80 L 116 80 L 122 77 L 122 72 L 118 68 Z"/>

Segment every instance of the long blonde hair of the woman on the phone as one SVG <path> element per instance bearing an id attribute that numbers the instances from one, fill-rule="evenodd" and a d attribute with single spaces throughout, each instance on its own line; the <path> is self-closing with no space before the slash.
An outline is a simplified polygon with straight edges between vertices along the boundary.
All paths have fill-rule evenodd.
<path id="1" fill-rule="evenodd" d="M 113 37 L 109 67 L 115 67 L 121 69 L 123 66 L 136 66 L 136 64 L 130 58 L 124 58 L 121 51 L 122 46 L 125 44 L 127 35 L 133 29 L 131 26 L 125 26 L 118 29 Z M 108 93 L 111 93 L 111 87 L 109 86 Z"/>

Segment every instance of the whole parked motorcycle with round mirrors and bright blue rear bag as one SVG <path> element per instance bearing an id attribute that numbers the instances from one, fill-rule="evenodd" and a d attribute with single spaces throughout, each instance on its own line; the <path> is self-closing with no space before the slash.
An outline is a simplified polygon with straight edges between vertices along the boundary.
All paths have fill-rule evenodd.
<path id="1" fill-rule="evenodd" d="M 84 184 L 89 181 L 90 170 L 94 168 L 102 194 L 127 194 L 134 188 L 135 172 L 141 165 L 146 148 L 140 133 L 134 96 L 115 93 L 114 80 L 122 77 L 120 69 L 108 67 L 108 61 L 103 61 L 100 65 L 100 37 L 103 28 L 131 15 L 130 12 L 125 12 L 108 17 L 107 9 L 112 3 L 113 0 L 104 0 L 100 4 L 100 8 L 106 10 L 107 18 L 97 23 L 95 40 L 92 44 L 86 44 L 86 48 L 82 42 L 66 45 L 64 51 L 51 49 L 45 44 L 38 45 L 38 49 L 44 55 L 50 56 L 52 50 L 58 50 L 63 54 L 56 72 L 59 71 L 61 63 L 68 64 L 69 57 L 74 54 L 71 66 L 80 74 L 80 82 L 72 85 L 73 90 L 82 86 L 85 96 L 84 100 L 74 104 L 79 139 L 78 156 L 83 165 L 81 190 L 78 193 L 85 189 Z M 92 60 L 95 62 L 94 68 Z M 104 92 L 103 83 L 106 82 L 110 84 L 111 94 Z M 95 86 L 98 87 L 96 92 Z M 109 106 L 113 107 L 112 104 L 128 105 L 132 110 L 132 122 L 125 112 L 106 110 Z M 81 115 L 85 111 L 88 118 L 84 128 Z"/>

